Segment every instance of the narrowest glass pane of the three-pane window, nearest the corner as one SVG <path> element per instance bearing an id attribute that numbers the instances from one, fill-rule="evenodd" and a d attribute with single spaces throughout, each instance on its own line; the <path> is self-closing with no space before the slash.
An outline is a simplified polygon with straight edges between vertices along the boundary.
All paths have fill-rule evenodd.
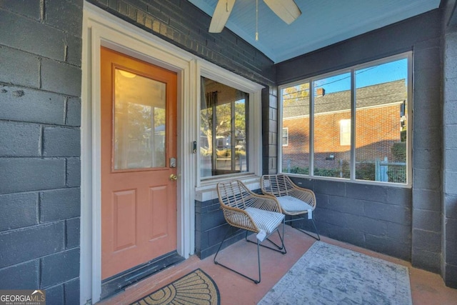
<path id="1" fill-rule="evenodd" d="M 282 146 L 284 173 L 309 174 L 309 83 L 281 90 L 283 129 L 288 131 Z M 284 142 L 283 142 L 284 144 Z"/>

